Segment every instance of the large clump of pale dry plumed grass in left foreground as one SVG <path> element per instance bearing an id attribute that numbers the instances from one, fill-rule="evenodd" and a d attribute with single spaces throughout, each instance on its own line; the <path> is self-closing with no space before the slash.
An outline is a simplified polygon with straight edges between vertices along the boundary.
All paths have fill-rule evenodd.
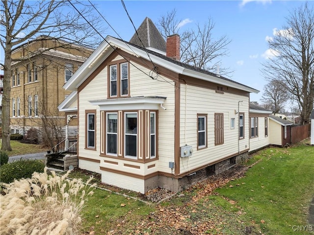
<path id="1" fill-rule="evenodd" d="M 92 186 L 81 179 L 34 172 L 30 179 L 3 184 L 0 195 L 1 235 L 77 235 L 80 211 Z"/>

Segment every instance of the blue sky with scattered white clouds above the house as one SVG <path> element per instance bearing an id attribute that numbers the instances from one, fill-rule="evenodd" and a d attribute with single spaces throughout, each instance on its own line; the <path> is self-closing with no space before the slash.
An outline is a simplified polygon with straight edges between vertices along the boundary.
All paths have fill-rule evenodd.
<path id="1" fill-rule="evenodd" d="M 134 28 L 120 0 L 91 2 L 122 39 L 131 39 Z M 125 0 L 136 28 L 145 17 L 157 24 L 162 15 L 173 9 L 176 9 L 177 19 L 182 20 L 182 30 L 193 28 L 197 23 L 207 23 L 210 17 L 215 23 L 213 37 L 226 35 L 232 41 L 228 45 L 229 56 L 221 59 L 221 67 L 234 71 L 230 74 L 234 81 L 260 90 L 259 94 L 251 94 L 251 101 L 258 102 L 262 97 L 263 86 L 267 83 L 260 71 L 261 63 L 265 62 L 269 55 L 266 39 L 282 29 L 289 11 L 304 3 L 305 1 L 301 0 Z M 98 15 L 96 10 L 95 15 Z M 100 20 L 103 19 L 100 17 Z M 105 21 L 104 25 L 108 26 Z M 106 34 L 119 37 L 109 26 Z M 2 52 L 1 49 L 1 61 Z"/>

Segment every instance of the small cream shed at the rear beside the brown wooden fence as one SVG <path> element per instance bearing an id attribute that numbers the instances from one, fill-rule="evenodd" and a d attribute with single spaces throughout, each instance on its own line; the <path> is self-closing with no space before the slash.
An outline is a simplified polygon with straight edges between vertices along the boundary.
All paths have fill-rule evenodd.
<path id="1" fill-rule="evenodd" d="M 291 126 L 292 122 L 282 118 L 269 116 L 269 136 L 270 144 L 285 146 L 291 143 Z"/>

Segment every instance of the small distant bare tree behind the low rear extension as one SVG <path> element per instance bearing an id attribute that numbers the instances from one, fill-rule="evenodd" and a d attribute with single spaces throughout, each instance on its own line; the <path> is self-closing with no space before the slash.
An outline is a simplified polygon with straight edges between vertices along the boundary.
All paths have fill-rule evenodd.
<path id="1" fill-rule="evenodd" d="M 285 91 L 282 81 L 270 81 L 264 86 L 262 102 L 264 107 L 272 110 L 274 114 L 285 112 L 285 105 L 289 94 Z"/>

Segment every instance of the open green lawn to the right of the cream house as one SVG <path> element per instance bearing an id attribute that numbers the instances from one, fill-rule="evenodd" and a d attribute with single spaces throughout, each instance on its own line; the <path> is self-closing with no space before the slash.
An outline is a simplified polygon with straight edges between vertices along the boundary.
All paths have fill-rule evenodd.
<path id="1" fill-rule="evenodd" d="M 216 192 L 235 200 L 247 219 L 261 226 L 262 233 L 296 234 L 294 226 L 307 225 L 314 197 L 314 147 L 269 148 L 255 158 L 262 161 L 250 168 L 246 177 Z"/>

